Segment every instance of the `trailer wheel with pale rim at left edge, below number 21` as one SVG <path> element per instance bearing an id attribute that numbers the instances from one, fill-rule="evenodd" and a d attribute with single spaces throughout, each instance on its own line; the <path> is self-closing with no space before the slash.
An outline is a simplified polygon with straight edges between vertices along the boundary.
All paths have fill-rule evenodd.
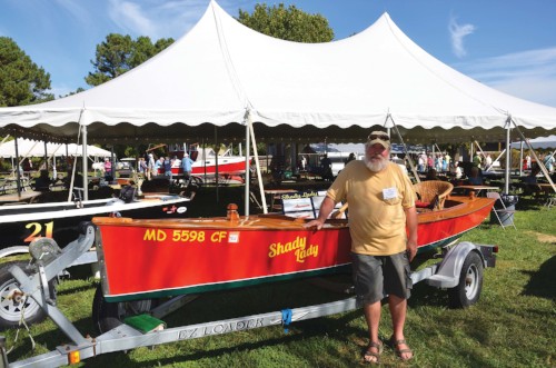
<path id="1" fill-rule="evenodd" d="M 37 324 L 46 318 L 42 308 L 32 299 L 21 294 L 18 281 L 8 271 L 19 266 L 27 275 L 32 273 L 26 261 L 12 261 L 0 266 L 0 329 L 19 326 L 21 314 L 27 325 Z M 50 299 L 56 300 L 56 279 L 48 284 Z"/>

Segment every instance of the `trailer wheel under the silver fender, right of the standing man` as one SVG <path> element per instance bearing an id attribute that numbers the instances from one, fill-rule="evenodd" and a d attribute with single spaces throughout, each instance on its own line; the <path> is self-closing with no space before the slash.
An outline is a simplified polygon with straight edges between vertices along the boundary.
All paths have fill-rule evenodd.
<path id="1" fill-rule="evenodd" d="M 483 260 L 471 251 L 467 255 L 459 273 L 459 284 L 448 289 L 450 308 L 467 308 L 479 300 L 483 289 Z"/>

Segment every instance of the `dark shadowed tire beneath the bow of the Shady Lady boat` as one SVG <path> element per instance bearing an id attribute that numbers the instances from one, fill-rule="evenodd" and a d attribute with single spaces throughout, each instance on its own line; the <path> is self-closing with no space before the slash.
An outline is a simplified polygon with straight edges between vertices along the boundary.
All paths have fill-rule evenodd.
<path id="1" fill-rule="evenodd" d="M 106 301 L 99 285 L 92 300 L 92 321 L 97 331 L 105 334 L 123 324 L 126 317 L 149 312 L 158 305 L 158 299 Z"/>

